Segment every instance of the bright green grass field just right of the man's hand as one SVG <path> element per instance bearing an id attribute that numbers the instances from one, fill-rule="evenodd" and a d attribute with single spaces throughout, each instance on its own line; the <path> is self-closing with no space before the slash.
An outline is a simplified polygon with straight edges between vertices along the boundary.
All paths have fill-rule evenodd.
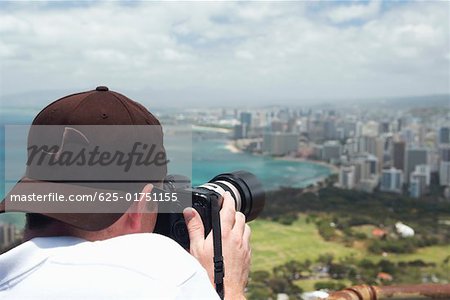
<path id="1" fill-rule="evenodd" d="M 306 223 L 305 216 L 292 225 L 281 225 L 267 220 L 250 223 L 252 228 L 252 270 L 271 271 L 289 260 L 315 261 L 321 254 L 331 253 L 335 259 L 354 255 L 356 259 L 374 261 L 412 261 L 421 259 L 441 264 L 450 255 L 450 245 L 420 248 L 412 254 L 389 254 L 387 257 L 367 253 L 364 249 L 348 248 L 337 242 L 327 242 L 318 233 L 314 223 Z"/>

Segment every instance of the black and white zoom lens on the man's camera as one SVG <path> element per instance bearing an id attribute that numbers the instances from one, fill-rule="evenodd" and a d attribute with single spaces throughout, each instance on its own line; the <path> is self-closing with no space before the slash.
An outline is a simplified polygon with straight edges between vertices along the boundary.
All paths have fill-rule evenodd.
<path id="1" fill-rule="evenodd" d="M 261 182 L 250 172 L 220 174 L 202 187 L 230 192 L 235 200 L 236 210 L 242 212 L 247 221 L 254 220 L 264 208 L 264 189 Z"/>

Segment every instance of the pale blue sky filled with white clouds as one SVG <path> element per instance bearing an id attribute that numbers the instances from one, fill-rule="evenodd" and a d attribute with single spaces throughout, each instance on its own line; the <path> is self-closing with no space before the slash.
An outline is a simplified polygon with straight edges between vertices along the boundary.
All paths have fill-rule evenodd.
<path id="1" fill-rule="evenodd" d="M 2 2 L 0 100 L 97 85 L 183 107 L 449 93 L 449 14 L 447 1 Z"/>

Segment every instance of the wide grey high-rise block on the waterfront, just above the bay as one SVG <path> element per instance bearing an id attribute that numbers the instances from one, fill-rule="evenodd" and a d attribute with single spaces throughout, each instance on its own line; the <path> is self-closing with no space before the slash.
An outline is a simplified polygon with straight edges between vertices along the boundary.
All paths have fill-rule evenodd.
<path id="1" fill-rule="evenodd" d="M 299 136 L 295 133 L 268 132 L 264 134 L 262 149 L 270 155 L 282 156 L 295 153 L 299 148 Z"/>

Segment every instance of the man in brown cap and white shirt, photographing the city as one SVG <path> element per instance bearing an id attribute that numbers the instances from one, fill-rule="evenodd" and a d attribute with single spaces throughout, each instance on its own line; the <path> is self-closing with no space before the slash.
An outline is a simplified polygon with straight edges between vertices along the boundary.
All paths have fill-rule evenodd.
<path id="1" fill-rule="evenodd" d="M 204 237 L 203 223 L 196 210 L 187 208 L 183 211 L 190 254 L 175 241 L 151 233 L 155 228 L 158 207 L 145 198 L 152 194 L 154 186 L 161 187 L 167 173 L 165 164 L 131 168 L 130 172 L 108 171 L 110 174 L 107 174 L 103 169 L 102 173 L 91 166 L 88 171 L 80 169 L 81 161 L 78 165 L 61 163 L 64 155 L 69 153 L 63 149 L 73 152 L 81 149 L 80 144 L 83 143 L 96 141 L 116 147 L 115 143 L 120 141 L 121 146 L 127 146 L 129 137 L 135 139 L 136 132 L 121 132 L 121 128 L 114 127 L 117 125 L 133 130 L 139 126 L 155 125 L 157 129 L 143 138 L 150 139 L 160 153 L 165 154 L 160 123 L 147 109 L 109 91 L 107 87 L 97 87 L 94 91 L 69 95 L 53 102 L 36 116 L 33 125 L 36 127 L 30 129 L 28 137 L 26 176 L 0 203 L 0 212 L 15 210 L 27 213 L 25 242 L 0 256 L 0 299 L 218 298 L 213 281 L 212 235 Z M 49 125 L 62 126 L 63 131 L 50 134 L 48 132 L 53 129 L 45 127 Z M 88 129 L 83 126 L 91 125 L 100 128 L 101 134 L 86 134 Z M 36 130 L 39 130 L 34 128 L 44 128 L 45 134 L 37 134 Z M 109 132 L 104 133 L 104 128 Z M 43 168 L 42 161 L 30 163 L 36 155 L 30 150 L 30 143 L 45 144 L 47 139 L 55 136 L 62 137 L 62 140 L 49 143 L 58 144 L 58 148 L 53 152 L 39 153 L 45 154 L 44 162 L 47 159 L 52 162 L 53 159 L 60 164 L 50 163 Z M 97 161 L 90 162 L 101 164 L 102 157 L 100 154 Z M 111 155 L 105 154 L 105 157 L 110 158 Z M 69 158 L 65 162 L 68 161 Z M 84 159 L 83 163 L 86 161 Z M 123 173 L 122 177 L 117 177 L 117 173 Z M 122 188 L 120 184 L 103 183 L 99 175 L 100 179 L 107 177 L 114 182 L 134 177 L 132 183 Z M 147 183 L 138 180 L 142 178 L 149 180 Z M 113 189 L 114 193 L 111 192 Z M 117 193 L 117 190 L 120 191 Z M 54 205 L 59 203 L 54 202 L 38 201 L 14 206 L 12 201 L 14 195 L 60 193 L 69 197 L 95 193 L 97 196 L 98 191 L 116 196 L 130 195 L 134 191 L 140 193 L 133 195 L 140 196 L 133 201 L 113 199 L 110 203 L 63 202 L 65 211 L 55 210 Z M 88 210 L 77 211 L 81 205 L 87 205 Z M 99 207 L 109 210 L 97 212 Z M 223 195 L 220 217 L 225 299 L 241 299 L 244 298 L 250 265 L 250 228 L 245 224 L 245 216 L 235 211 L 234 200 L 228 193 Z"/>

